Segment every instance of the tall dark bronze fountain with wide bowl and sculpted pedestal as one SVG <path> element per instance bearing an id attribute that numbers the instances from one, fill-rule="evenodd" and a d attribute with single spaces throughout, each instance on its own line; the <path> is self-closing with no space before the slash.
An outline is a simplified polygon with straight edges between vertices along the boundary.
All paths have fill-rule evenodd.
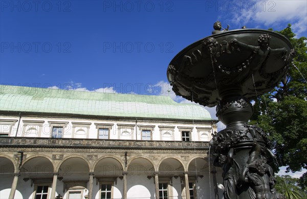
<path id="1" fill-rule="evenodd" d="M 221 32 L 191 44 L 170 62 L 173 91 L 204 106 L 216 106 L 226 129 L 210 141 L 223 168 L 224 198 L 284 198 L 276 192 L 267 134 L 248 121 L 251 99 L 269 92 L 286 75 L 293 54 L 284 36 L 267 30 Z"/>

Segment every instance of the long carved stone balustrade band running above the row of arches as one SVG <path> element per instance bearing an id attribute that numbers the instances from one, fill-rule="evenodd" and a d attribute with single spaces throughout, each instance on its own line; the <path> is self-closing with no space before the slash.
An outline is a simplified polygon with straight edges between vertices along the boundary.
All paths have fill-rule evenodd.
<path id="1" fill-rule="evenodd" d="M 84 149 L 208 149 L 208 142 L 98 140 L 49 137 L 1 137 L 0 148 L 84 148 Z M 55 159 L 60 157 L 54 156 Z"/>

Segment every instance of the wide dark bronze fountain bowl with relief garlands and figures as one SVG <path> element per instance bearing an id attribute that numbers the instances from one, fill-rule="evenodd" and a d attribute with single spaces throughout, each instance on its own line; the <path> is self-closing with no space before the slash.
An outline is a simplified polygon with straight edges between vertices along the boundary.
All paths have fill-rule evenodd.
<path id="1" fill-rule="evenodd" d="M 177 95 L 203 106 L 238 95 L 253 99 L 271 91 L 286 75 L 291 49 L 290 41 L 273 31 L 222 32 L 179 52 L 168 66 L 167 78 Z"/>

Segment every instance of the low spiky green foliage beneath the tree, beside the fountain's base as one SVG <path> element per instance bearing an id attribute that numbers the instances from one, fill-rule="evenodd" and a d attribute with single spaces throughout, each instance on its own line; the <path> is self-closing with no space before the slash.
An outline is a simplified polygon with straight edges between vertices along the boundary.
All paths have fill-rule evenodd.
<path id="1" fill-rule="evenodd" d="M 306 199 L 307 193 L 300 186 L 298 178 L 290 175 L 276 176 L 276 190 L 286 196 L 287 199 Z"/>

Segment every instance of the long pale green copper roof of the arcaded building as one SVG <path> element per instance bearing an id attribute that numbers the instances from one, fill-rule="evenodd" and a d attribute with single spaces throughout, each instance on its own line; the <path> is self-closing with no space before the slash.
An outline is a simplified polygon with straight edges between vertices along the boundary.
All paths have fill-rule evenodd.
<path id="1" fill-rule="evenodd" d="M 0 110 L 81 115 L 211 120 L 194 104 L 169 96 L 85 92 L 0 85 Z"/>

